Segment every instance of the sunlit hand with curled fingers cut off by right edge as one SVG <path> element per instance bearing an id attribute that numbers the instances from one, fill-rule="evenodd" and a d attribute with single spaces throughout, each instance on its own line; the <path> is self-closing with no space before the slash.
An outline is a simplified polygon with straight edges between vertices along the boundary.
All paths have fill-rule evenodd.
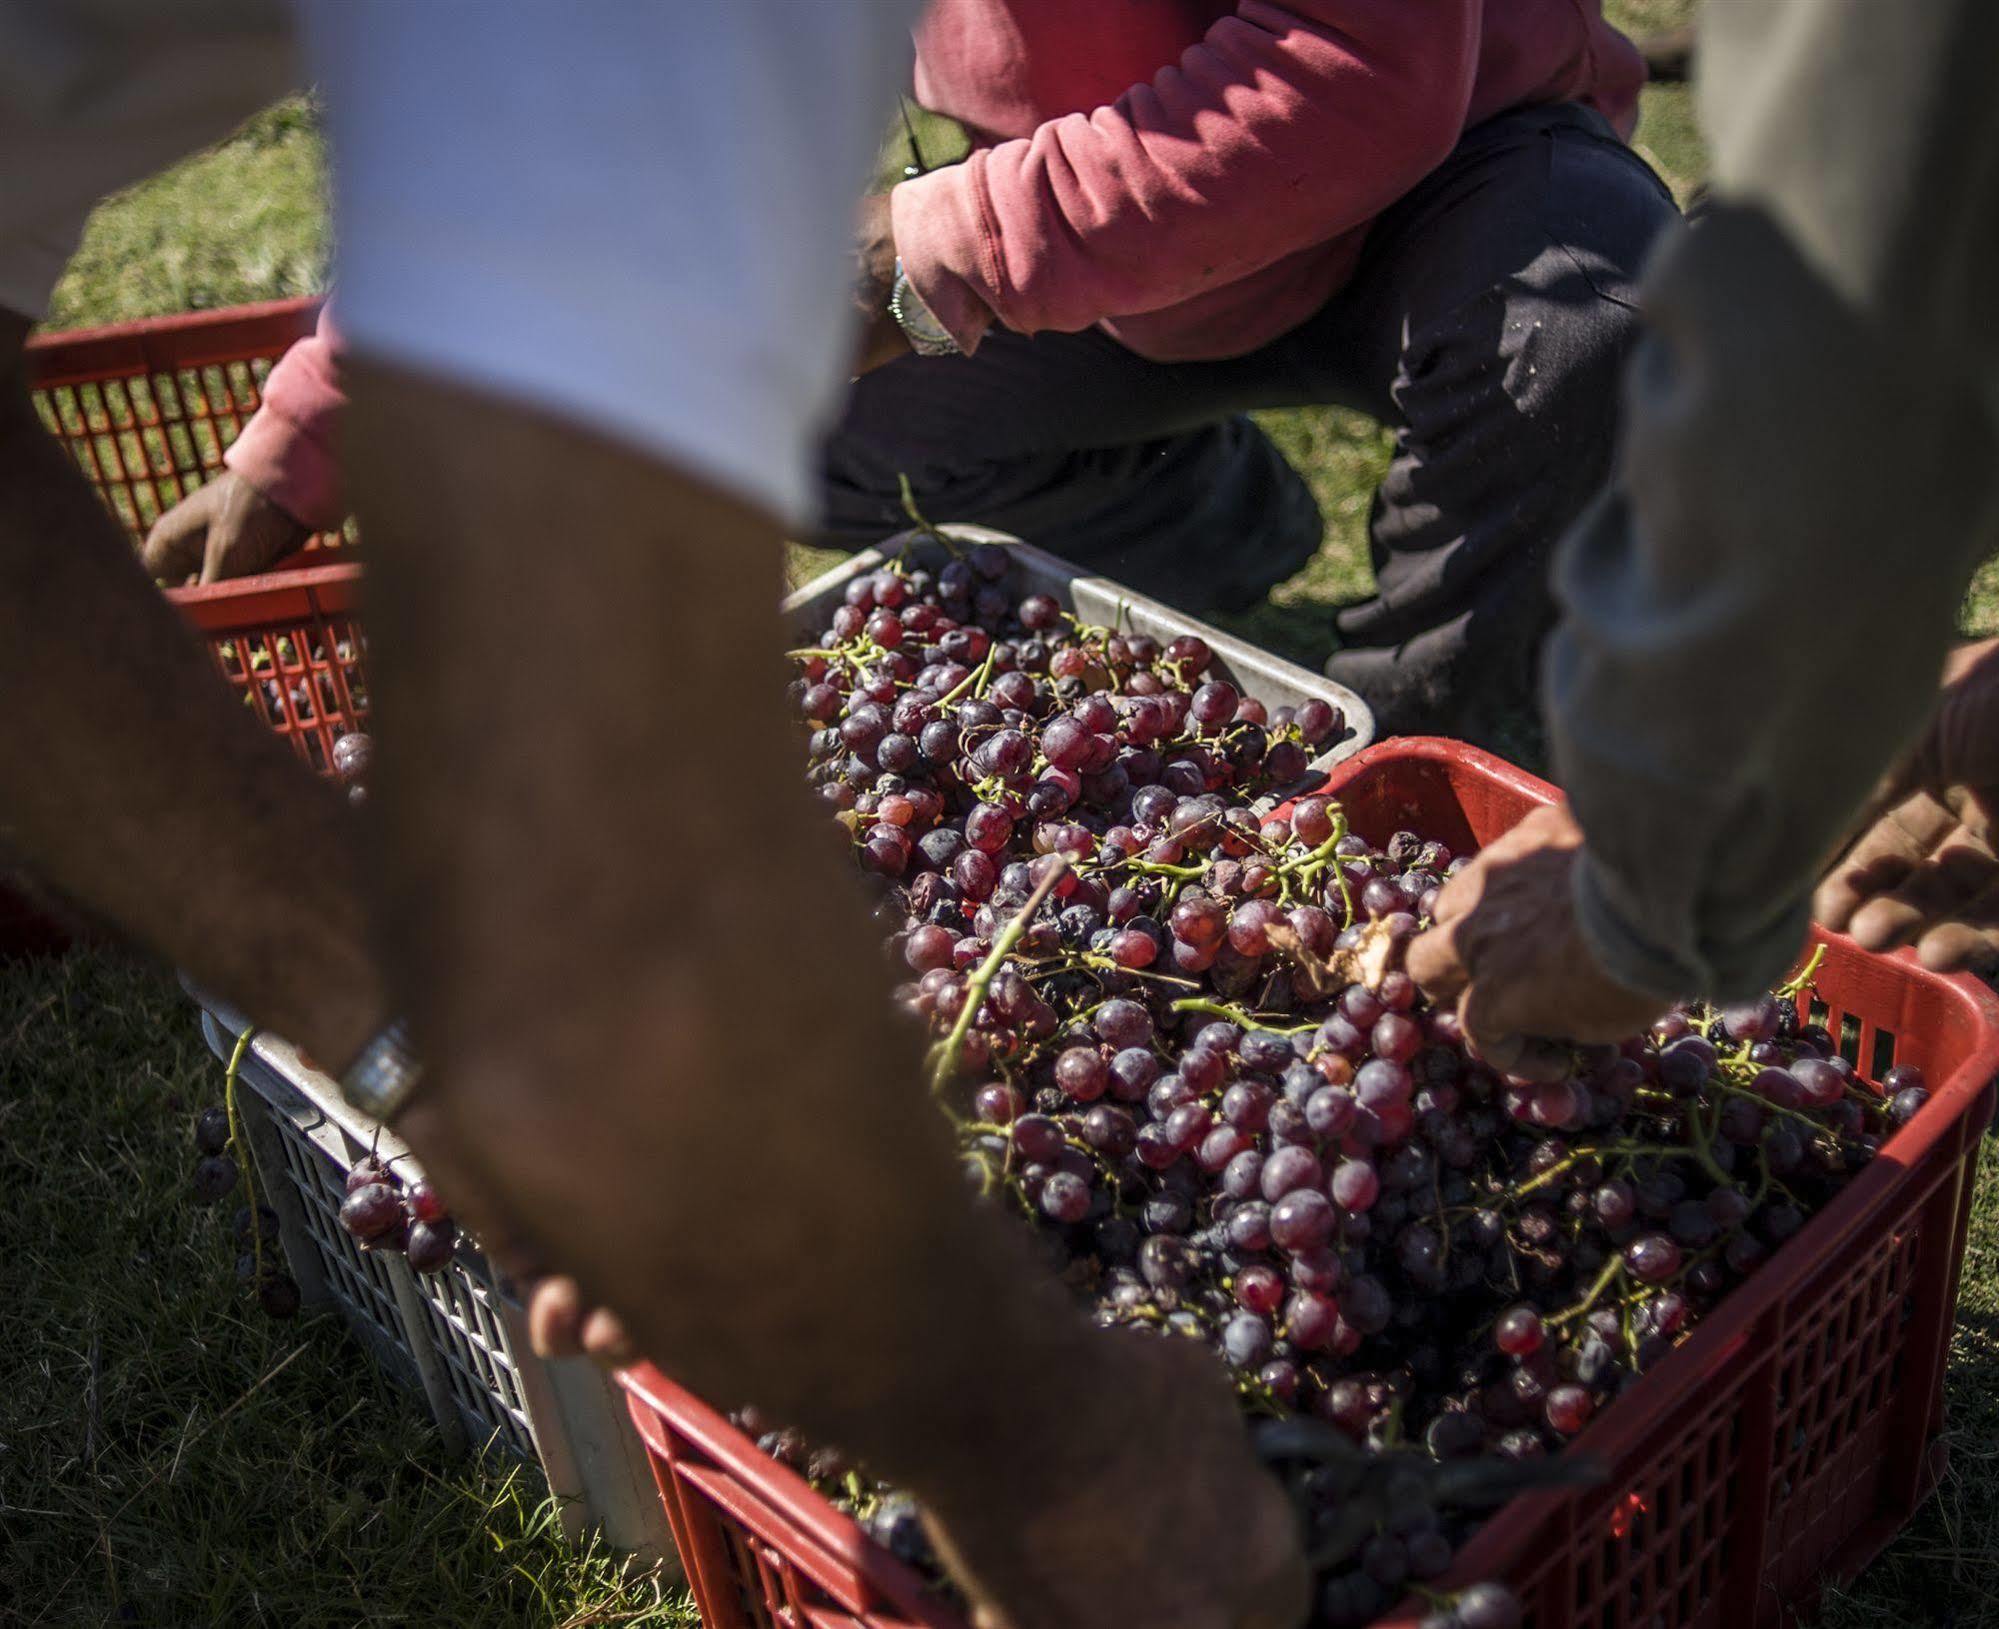
<path id="1" fill-rule="evenodd" d="M 1999 961 L 1999 640 L 1945 664 L 1923 740 L 1883 780 L 1813 915 L 1863 949 L 1915 945 L 1925 967 Z"/>

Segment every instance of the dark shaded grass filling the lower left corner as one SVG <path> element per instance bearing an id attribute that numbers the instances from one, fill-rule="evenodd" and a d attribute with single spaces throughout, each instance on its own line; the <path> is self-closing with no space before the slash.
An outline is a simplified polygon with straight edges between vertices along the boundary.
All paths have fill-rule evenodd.
<path id="1" fill-rule="evenodd" d="M 236 1283 L 188 1193 L 222 1065 L 158 969 L 0 975 L 0 1623 L 696 1623 L 562 1543 L 540 1479 L 452 1461 L 332 1319 Z"/>

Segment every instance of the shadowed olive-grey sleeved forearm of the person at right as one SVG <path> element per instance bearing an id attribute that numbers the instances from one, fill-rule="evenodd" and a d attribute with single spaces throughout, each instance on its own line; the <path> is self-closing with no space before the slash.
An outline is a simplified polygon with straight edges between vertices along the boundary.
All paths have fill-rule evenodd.
<path id="1" fill-rule="evenodd" d="M 1933 702 L 1995 542 L 1995 444 L 1949 358 L 1759 214 L 1679 242 L 1649 312 L 1623 498 L 1557 562 L 1549 724 L 1605 965 L 1737 995 L 1795 953 L 1813 879 Z"/>

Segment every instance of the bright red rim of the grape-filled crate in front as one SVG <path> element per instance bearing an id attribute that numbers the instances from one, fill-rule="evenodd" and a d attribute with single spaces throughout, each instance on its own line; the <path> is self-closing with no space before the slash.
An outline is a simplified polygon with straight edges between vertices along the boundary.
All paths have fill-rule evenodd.
<path id="1" fill-rule="evenodd" d="M 1345 786 L 1383 762 L 1419 762 L 1437 768 L 1473 770 L 1483 780 L 1527 798 L 1533 804 L 1557 804 L 1561 792 L 1539 776 L 1507 764 L 1481 748 L 1453 742 L 1441 736 L 1399 736 L 1361 748 L 1353 756 L 1331 768 L 1319 792 L 1337 796 Z M 1809 943 L 1831 943 L 1851 939 L 1831 933 L 1817 923 L 1811 925 Z M 1855 953 L 1869 955 L 1853 945 Z M 1669 1421 L 1677 1407 L 1697 1391 L 1715 1369 L 1743 1347 L 1755 1327 L 1781 1309 L 1783 1301 L 1805 1287 L 1829 1251 L 1847 1247 L 1853 1237 L 1867 1229 L 1879 1213 L 1897 1197 L 1907 1173 L 1939 1151 L 1953 1137 L 1973 1139 L 1983 1131 L 1993 1111 L 1995 1083 L 1999 1073 L 1999 995 L 1981 985 L 1969 973 L 1935 973 L 1915 959 L 1913 949 L 1895 951 L 1887 959 L 1897 963 L 1911 979 L 1929 985 L 1945 995 L 1973 1025 L 1969 1053 L 1951 1071 L 1949 1081 L 1931 1087 L 1931 1097 L 1921 1113 L 1901 1127 L 1887 1147 L 1861 1171 L 1839 1197 L 1817 1211 L 1811 1223 L 1773 1251 L 1769 1261 L 1737 1285 L 1717 1311 L 1703 1319 L 1693 1335 L 1675 1347 L 1641 1381 L 1647 1407 L 1643 1411 L 1607 1407 L 1575 1439 L 1573 1453 L 1615 1463 L 1623 1453 L 1639 1447 L 1647 1437 Z M 1977 1107 L 1983 1099 L 1983 1107 Z M 1961 1149 L 1959 1149 L 1961 1153 Z M 856 1557 L 856 1567 L 864 1579 L 882 1587 L 894 1581 L 884 1593 L 900 1607 L 908 1609 L 904 1577 L 918 1589 L 914 1573 L 878 1545 L 862 1525 L 826 1501 L 804 1477 L 788 1465 L 780 1465 L 762 1453 L 750 1437 L 732 1425 L 718 1409 L 696 1397 L 654 1363 L 638 1363 L 618 1373 L 618 1383 L 656 1409 L 672 1429 L 694 1443 L 710 1459 L 742 1479 L 760 1493 L 778 1515 L 794 1521 L 820 1549 L 832 1555 Z M 1613 1493 L 1609 1483 L 1599 1489 Z M 1575 1489 L 1543 1489 L 1525 1493 L 1495 1509 L 1477 1529 L 1471 1541 L 1457 1553 L 1451 1571 L 1437 1581 L 1437 1587 L 1465 1587 L 1481 1577 L 1501 1577 L 1509 1559 L 1533 1543 L 1535 1529 L 1575 1501 Z M 1587 1495 L 1585 1495 L 1587 1497 Z M 1391 1607 L 1377 1629 L 1403 1629 L 1415 1619 L 1407 1613 L 1409 1603 Z M 930 1619 L 924 1619 L 930 1621 Z M 962 1619 L 950 1619 L 958 1625 Z"/>

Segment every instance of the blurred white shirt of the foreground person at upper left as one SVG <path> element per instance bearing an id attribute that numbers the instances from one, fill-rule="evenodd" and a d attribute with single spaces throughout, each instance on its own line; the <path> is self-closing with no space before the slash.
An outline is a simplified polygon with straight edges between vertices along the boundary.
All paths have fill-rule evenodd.
<path id="1" fill-rule="evenodd" d="M 302 0 L 346 344 L 784 520 L 852 354 L 854 206 L 914 0 Z M 278 0 L 0 0 L 0 306 L 106 192 L 300 82 Z"/>

